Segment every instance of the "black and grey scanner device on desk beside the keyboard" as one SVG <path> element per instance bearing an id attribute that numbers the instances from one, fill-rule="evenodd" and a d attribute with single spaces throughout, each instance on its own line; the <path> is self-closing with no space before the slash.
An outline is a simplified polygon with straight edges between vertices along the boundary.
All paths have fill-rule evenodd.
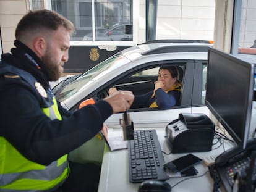
<path id="1" fill-rule="evenodd" d="M 205 114 L 181 113 L 165 131 L 172 153 L 211 151 L 215 124 Z"/>

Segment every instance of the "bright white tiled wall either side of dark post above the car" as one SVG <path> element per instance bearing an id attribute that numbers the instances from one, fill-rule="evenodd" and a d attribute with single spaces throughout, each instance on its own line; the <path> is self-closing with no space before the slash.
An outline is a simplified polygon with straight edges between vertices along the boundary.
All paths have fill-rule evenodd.
<path id="1" fill-rule="evenodd" d="M 215 0 L 158 0 L 156 39 L 213 40 Z M 138 43 L 145 42 L 145 0 L 140 0 Z"/>

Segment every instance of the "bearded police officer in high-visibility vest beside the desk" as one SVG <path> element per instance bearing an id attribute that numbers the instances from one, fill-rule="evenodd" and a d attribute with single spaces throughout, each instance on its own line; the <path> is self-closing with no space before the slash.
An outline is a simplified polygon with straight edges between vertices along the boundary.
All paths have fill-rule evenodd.
<path id="1" fill-rule="evenodd" d="M 61 107 L 48 82 L 62 75 L 73 31 L 56 12 L 30 11 L 17 25 L 15 48 L 2 54 L 0 191 L 97 190 L 90 177 L 69 182 L 75 172 L 67 154 L 93 138 L 111 114 L 128 109 L 134 95 L 119 91 L 73 113 Z"/>

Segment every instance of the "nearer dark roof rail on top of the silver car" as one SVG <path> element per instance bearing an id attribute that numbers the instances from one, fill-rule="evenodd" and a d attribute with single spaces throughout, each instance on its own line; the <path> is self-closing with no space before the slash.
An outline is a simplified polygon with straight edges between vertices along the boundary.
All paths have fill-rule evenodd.
<path id="1" fill-rule="evenodd" d="M 161 54 L 169 52 L 208 52 L 208 45 L 198 46 L 198 45 L 174 45 L 174 46 L 162 46 L 155 49 L 150 49 L 149 51 L 142 52 L 142 55 L 150 54 Z"/>

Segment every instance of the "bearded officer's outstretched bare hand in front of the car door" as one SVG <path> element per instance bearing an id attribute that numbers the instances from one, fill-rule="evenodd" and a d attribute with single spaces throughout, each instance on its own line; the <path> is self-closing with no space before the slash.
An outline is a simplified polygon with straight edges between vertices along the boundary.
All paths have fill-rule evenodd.
<path id="1" fill-rule="evenodd" d="M 134 102 L 134 94 L 131 91 L 116 91 L 104 100 L 111 105 L 115 114 L 117 112 L 124 112 L 130 108 L 132 102 Z"/>

